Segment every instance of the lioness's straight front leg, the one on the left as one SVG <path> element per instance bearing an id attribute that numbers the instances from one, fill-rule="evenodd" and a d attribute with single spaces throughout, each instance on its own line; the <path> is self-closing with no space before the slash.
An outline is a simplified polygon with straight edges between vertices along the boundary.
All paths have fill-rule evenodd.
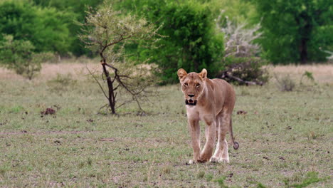
<path id="1" fill-rule="evenodd" d="M 200 157 L 200 126 L 199 120 L 188 120 L 189 131 L 191 133 L 191 145 L 193 148 L 193 160 L 189 161 L 189 164 L 193 164 L 199 161 Z"/>

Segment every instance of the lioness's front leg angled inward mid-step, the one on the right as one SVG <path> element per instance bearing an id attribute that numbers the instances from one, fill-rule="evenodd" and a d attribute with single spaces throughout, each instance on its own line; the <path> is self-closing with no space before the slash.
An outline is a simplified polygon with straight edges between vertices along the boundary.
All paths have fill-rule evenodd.
<path id="1" fill-rule="evenodd" d="M 216 136 L 216 121 L 215 118 L 204 118 L 206 122 L 206 144 L 203 147 L 203 151 L 200 154 L 200 162 L 207 162 L 213 155 L 213 149 L 215 145 Z"/>

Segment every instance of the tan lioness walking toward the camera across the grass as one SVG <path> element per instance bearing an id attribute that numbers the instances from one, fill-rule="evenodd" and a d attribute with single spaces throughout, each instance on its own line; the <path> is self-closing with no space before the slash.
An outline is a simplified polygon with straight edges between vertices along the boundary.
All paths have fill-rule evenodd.
<path id="1" fill-rule="evenodd" d="M 184 93 L 191 145 L 194 162 L 229 162 L 228 142 L 226 133 L 230 131 L 233 148 L 238 149 L 238 142 L 234 141 L 231 125 L 231 114 L 236 101 L 235 91 L 225 80 L 207 78 L 205 68 L 201 73 L 186 73 L 178 70 L 181 90 Z M 199 120 L 206 122 L 206 145 L 200 148 Z M 218 142 L 213 155 L 216 137 Z M 213 155 L 213 157 L 212 157 Z"/>

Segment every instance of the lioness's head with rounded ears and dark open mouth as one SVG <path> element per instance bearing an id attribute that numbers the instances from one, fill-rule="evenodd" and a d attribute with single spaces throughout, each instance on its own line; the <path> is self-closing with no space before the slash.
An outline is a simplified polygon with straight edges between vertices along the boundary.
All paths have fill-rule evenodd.
<path id="1" fill-rule="evenodd" d="M 181 83 L 181 90 L 184 93 L 185 104 L 196 105 L 203 89 L 206 87 L 207 70 L 203 68 L 201 73 L 186 73 L 183 68 L 180 68 L 178 78 Z"/>

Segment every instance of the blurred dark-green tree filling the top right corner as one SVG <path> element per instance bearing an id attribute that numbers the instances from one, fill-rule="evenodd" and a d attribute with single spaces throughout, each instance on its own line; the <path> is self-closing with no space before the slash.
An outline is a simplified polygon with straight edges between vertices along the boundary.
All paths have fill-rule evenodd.
<path id="1" fill-rule="evenodd" d="M 327 0 L 253 0 L 264 37 L 265 56 L 273 63 L 324 61 L 333 43 L 333 3 Z"/>

